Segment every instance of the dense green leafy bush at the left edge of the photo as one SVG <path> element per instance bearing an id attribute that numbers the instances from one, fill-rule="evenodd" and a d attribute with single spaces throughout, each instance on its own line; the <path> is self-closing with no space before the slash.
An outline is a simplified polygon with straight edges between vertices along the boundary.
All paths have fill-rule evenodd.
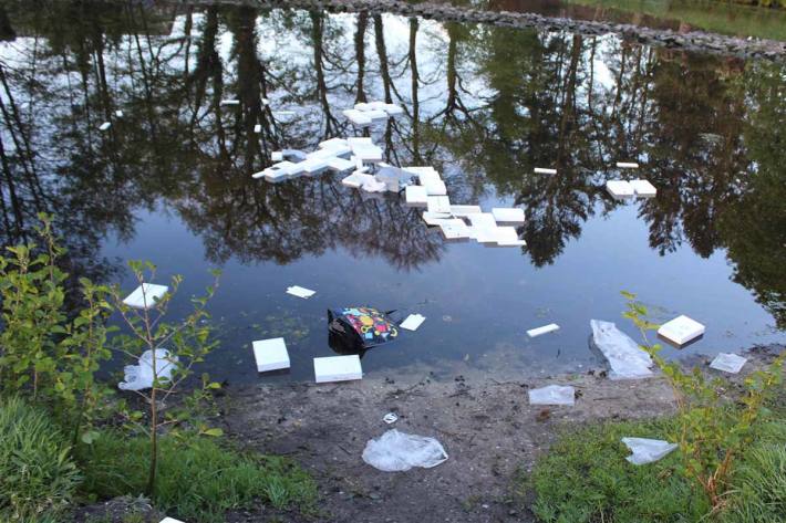
<path id="1" fill-rule="evenodd" d="M 40 215 L 42 245 L 8 248 L 0 257 L 0 390 L 21 395 L 55 411 L 61 425 L 89 435 L 106 388 L 94 379 L 102 360 L 110 357 L 106 318 L 112 307 L 107 287 L 80 280 L 79 313 L 68 313 L 65 282 L 69 275 L 58 262 L 51 219 Z"/>

